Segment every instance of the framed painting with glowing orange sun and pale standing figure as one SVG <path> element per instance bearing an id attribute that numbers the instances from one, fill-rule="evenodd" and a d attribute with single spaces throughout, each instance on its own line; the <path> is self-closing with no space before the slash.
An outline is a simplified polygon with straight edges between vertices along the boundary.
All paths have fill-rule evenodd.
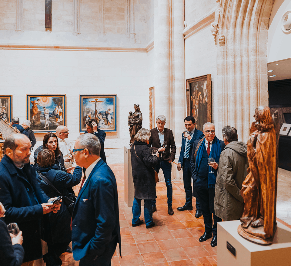
<path id="1" fill-rule="evenodd" d="M 66 95 L 26 95 L 26 117 L 35 133 L 55 132 L 66 125 Z"/>

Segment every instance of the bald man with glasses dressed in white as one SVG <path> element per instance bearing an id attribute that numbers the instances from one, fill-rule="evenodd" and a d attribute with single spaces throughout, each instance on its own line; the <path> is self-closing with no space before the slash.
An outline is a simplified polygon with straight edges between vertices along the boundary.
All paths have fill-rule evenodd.
<path id="1" fill-rule="evenodd" d="M 64 155 L 65 167 L 68 168 L 69 163 L 74 161 L 74 158 L 72 156 L 73 146 L 67 140 L 69 136 L 69 130 L 66 126 L 58 126 L 55 131 L 55 135 L 58 137 L 59 141 L 59 148 Z"/>

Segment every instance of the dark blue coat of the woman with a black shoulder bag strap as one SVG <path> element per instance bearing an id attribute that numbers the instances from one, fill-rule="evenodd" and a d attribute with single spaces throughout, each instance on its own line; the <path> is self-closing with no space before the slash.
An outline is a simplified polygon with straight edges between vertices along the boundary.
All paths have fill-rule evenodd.
<path id="1" fill-rule="evenodd" d="M 56 165 L 46 168 L 40 167 L 38 165 L 36 169 L 40 172 L 40 174 L 44 175 L 55 186 L 55 188 L 59 190 L 59 192 L 65 196 L 69 195 L 68 188 L 78 185 L 82 178 L 82 168 L 79 166 L 75 167 L 74 174 L 68 174 L 65 171 L 59 170 Z M 47 185 L 39 176 L 38 182 L 41 189 L 46 193 L 47 196 L 49 196 L 49 198 L 59 196 L 59 194 L 53 188 Z M 57 213 L 49 213 L 49 222 L 52 229 L 53 243 L 71 242 L 71 215 L 64 203 L 62 203 L 61 209 Z M 49 242 L 51 242 L 50 239 Z"/>

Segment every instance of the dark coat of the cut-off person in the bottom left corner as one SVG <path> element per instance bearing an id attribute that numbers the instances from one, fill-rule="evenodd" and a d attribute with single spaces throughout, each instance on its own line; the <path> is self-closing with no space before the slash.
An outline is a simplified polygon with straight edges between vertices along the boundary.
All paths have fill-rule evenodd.
<path id="1" fill-rule="evenodd" d="M 1 265 L 21 266 L 24 257 L 24 249 L 22 245 L 12 245 L 11 237 L 2 218 L 0 218 L 0 239 Z"/>

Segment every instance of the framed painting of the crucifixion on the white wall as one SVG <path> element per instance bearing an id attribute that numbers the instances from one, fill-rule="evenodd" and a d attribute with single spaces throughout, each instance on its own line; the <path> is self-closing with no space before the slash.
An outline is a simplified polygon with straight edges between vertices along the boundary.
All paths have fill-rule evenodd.
<path id="1" fill-rule="evenodd" d="M 99 129 L 116 132 L 116 94 L 80 95 L 80 132 L 86 131 L 90 118 L 97 120 Z"/>

